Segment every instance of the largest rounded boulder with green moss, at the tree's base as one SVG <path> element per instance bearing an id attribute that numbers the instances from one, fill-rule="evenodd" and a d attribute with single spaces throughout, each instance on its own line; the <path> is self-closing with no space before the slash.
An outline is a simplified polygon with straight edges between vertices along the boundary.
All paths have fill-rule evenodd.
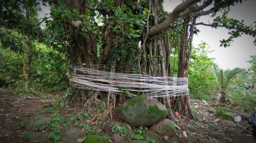
<path id="1" fill-rule="evenodd" d="M 156 99 L 138 96 L 118 108 L 118 117 L 133 126 L 150 126 L 167 116 L 166 107 Z"/>

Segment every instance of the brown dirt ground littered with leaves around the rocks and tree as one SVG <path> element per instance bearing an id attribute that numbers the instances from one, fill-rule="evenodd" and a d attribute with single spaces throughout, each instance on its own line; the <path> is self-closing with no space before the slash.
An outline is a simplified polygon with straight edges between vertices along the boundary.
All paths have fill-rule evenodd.
<path id="1" fill-rule="evenodd" d="M 59 93 L 48 94 L 48 98 L 26 98 L 22 94 L 0 94 L 0 142 L 53 142 L 47 138 L 50 132 L 47 130 L 30 130 L 31 137 L 24 140 L 28 131 L 24 127 L 19 128 L 19 126 L 24 120 L 29 120 L 33 115 L 36 115 L 45 108 L 47 104 L 58 100 L 60 97 L 61 94 Z M 172 137 L 159 138 L 158 142 L 253 142 L 251 132 L 246 130 L 248 125 L 246 119 L 243 119 L 240 123 L 226 121 L 217 116 L 215 109 L 218 106 L 216 103 L 193 100 L 191 105 L 201 122 L 182 118 L 177 122 L 180 130 L 177 129 L 176 134 Z M 227 108 L 231 109 L 232 113 L 242 113 L 245 116 L 250 114 L 239 106 L 229 105 Z M 60 113 L 64 114 L 62 116 L 67 117 L 71 113 L 75 115 L 76 112 L 74 111 L 67 108 L 61 110 Z M 51 115 L 47 116 L 51 117 Z M 117 119 L 117 122 L 121 121 Z M 99 131 L 100 135 L 106 134 L 111 136 L 111 131 L 104 131 L 102 125 L 97 125 L 95 129 Z M 136 130 L 136 128 L 132 130 Z M 39 140 L 37 140 L 38 138 Z M 114 142 L 113 139 L 112 142 Z"/>

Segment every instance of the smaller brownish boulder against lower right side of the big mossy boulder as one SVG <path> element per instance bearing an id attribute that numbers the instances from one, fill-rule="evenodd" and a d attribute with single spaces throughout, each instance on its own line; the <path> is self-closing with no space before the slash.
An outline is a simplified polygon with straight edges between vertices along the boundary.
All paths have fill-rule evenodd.
<path id="1" fill-rule="evenodd" d="M 176 132 L 176 128 L 173 121 L 170 121 L 169 119 L 164 119 L 158 122 L 157 124 L 153 125 L 150 128 L 150 130 L 162 136 L 163 135 L 172 136 Z"/>

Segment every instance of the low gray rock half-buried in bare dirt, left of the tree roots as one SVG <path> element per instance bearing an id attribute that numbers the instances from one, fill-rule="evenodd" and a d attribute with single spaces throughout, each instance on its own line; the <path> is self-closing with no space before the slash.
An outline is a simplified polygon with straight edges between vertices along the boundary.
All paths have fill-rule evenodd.
<path id="1" fill-rule="evenodd" d="M 49 124 L 51 118 L 45 117 L 45 115 L 35 115 L 29 121 L 26 121 L 24 127 L 29 130 L 39 130 L 40 127 Z"/>

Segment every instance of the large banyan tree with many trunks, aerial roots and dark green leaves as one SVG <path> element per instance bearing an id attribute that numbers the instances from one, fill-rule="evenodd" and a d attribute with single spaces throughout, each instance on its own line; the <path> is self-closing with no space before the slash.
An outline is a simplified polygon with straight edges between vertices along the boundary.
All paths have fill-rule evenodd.
<path id="1" fill-rule="evenodd" d="M 241 33 L 255 36 L 252 27 L 227 17 L 229 6 L 242 3 L 239 0 L 186 0 L 171 12 L 164 11 L 162 0 L 51 0 L 44 3 L 49 4 L 50 17 L 44 18 L 44 31 L 37 35 L 48 45 L 65 52 L 73 68 L 107 71 L 113 75 L 133 73 L 187 78 L 193 35 L 198 32 L 196 26 L 199 24 L 228 28 L 230 37 L 221 41 L 224 47 Z M 222 13 L 217 15 L 219 11 Z M 197 23 L 198 17 L 206 15 L 214 17 L 214 21 Z M 8 20 L 2 16 L 1 25 L 8 27 Z M 176 53 L 177 73 L 171 66 L 175 63 L 170 62 L 170 57 Z M 129 98 L 127 96 L 138 94 L 125 87 L 118 90 L 123 94 L 89 88 L 80 90 L 75 97 L 84 110 L 92 111 L 95 105 L 104 106 L 106 110 L 100 116 L 106 117 L 115 106 Z M 195 118 L 187 92 L 177 96 L 168 94 L 156 97 L 168 109 L 168 118 L 174 119 L 174 111 Z"/>

